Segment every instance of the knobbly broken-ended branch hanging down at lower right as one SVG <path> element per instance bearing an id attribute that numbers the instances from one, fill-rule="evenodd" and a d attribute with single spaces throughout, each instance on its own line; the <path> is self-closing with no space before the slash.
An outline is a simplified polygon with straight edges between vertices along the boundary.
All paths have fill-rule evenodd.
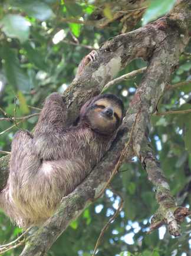
<path id="1" fill-rule="evenodd" d="M 159 161 L 154 156 L 153 150 L 145 140 L 144 143 L 144 159 L 142 161 L 143 168 L 148 173 L 149 180 L 156 188 L 156 199 L 159 204 L 159 209 L 152 217 L 152 225 L 150 231 L 166 224 L 169 233 L 177 237 L 180 235 L 180 221 L 183 221 L 185 216 L 190 212 L 187 208 L 182 208 L 182 218 L 177 218 L 175 212 L 179 209 L 176 201 L 170 194 L 170 187 L 167 179 L 164 176 L 162 169 L 160 169 Z"/>

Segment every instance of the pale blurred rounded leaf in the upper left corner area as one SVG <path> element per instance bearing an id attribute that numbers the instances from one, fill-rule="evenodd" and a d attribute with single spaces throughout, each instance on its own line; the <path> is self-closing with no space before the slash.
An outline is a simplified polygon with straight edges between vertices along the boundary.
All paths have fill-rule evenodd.
<path id="1" fill-rule="evenodd" d="M 24 42 L 29 37 L 30 23 L 24 17 L 15 14 L 7 14 L 0 22 L 0 27 L 7 37 L 18 38 Z"/>

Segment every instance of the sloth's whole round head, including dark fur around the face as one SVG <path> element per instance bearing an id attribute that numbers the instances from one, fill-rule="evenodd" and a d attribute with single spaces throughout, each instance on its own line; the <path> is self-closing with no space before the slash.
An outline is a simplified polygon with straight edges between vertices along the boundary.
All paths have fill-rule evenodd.
<path id="1" fill-rule="evenodd" d="M 123 102 L 113 94 L 96 96 L 81 108 L 80 120 L 94 132 L 110 135 L 122 123 Z"/>

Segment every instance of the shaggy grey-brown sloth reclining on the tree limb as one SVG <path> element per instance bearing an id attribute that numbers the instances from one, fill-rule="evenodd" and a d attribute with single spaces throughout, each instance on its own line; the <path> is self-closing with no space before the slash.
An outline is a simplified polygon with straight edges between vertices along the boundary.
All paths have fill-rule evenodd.
<path id="1" fill-rule="evenodd" d="M 62 197 L 74 191 L 110 148 L 123 120 L 123 102 L 113 94 L 88 100 L 70 127 L 64 126 L 65 110 L 64 97 L 52 93 L 34 132 L 19 130 L 12 141 L 0 204 L 19 227 L 42 225 L 54 214 Z"/>

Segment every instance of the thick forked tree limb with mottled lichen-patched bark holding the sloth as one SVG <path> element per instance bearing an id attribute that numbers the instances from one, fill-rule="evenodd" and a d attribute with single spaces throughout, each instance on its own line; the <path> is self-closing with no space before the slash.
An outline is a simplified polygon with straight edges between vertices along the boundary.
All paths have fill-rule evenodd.
<path id="1" fill-rule="evenodd" d="M 98 51 L 98 60 L 95 63 L 89 64 L 83 74 L 75 78 L 65 92 L 68 106 L 66 125 L 68 126 L 73 123 L 84 101 L 100 93 L 104 85 L 131 60 L 138 57 L 149 60 L 146 74 L 131 101 L 124 120 L 124 127 L 131 128 L 134 120 L 137 118 L 133 132 L 132 150 L 127 152 L 127 157 L 132 155 L 138 156 L 141 162 L 144 163 L 149 177 L 152 170 L 154 170 L 157 179 L 163 180 L 164 177 L 161 170 L 155 167 L 151 168 L 154 163 L 150 162 L 148 157 L 146 158 L 145 131 L 152 113 L 156 110 L 157 102 L 162 96 L 165 86 L 169 84 L 170 74 L 174 67 L 176 67 L 179 56 L 189 41 L 190 27 L 191 3 L 189 0 L 179 0 L 167 17 L 159 19 L 144 28 L 118 35 L 106 42 Z M 120 152 L 127 141 L 128 136 L 126 133 L 118 136 L 110 152 L 104 156 L 103 160 L 94 168 L 87 179 L 73 193 L 63 198 L 62 204 L 55 215 L 28 238 L 28 242 L 21 254 L 22 256 L 40 256 L 45 254 L 55 239 L 96 198 L 107 183 L 114 165 L 120 156 Z M 1 163 L 6 166 L 5 163 L 8 157 L 2 158 Z M 4 169 L 1 168 L 0 171 L 6 172 L 7 169 L 5 169 L 5 167 Z M 154 179 L 151 180 L 153 183 L 155 182 Z M 2 181 L 1 184 L 2 186 L 5 185 L 5 181 Z M 167 187 L 166 184 L 166 180 L 165 182 L 160 182 L 160 188 L 165 189 Z M 172 198 L 170 193 L 167 196 Z M 161 200 L 158 200 L 158 202 L 160 206 L 163 203 Z M 165 219 L 167 224 L 170 223 L 169 219 L 172 216 L 168 217 L 164 212 L 169 207 L 173 208 L 173 206 L 176 206 L 173 199 L 170 202 L 170 206 L 163 204 L 165 211 L 161 215 L 161 219 Z M 174 215 L 173 218 L 176 219 L 176 216 Z M 171 234 L 176 235 L 176 229 L 173 229 Z"/>

